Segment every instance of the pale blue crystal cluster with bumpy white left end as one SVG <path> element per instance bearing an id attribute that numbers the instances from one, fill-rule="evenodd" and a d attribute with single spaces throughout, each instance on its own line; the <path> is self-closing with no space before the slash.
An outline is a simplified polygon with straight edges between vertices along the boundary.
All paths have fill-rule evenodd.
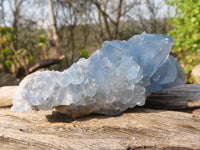
<path id="1" fill-rule="evenodd" d="M 12 111 L 56 108 L 77 117 L 117 115 L 142 106 L 151 92 L 185 83 L 181 65 L 169 56 L 172 45 L 172 37 L 146 33 L 128 41 L 105 41 L 63 72 L 38 71 L 24 78 Z"/>

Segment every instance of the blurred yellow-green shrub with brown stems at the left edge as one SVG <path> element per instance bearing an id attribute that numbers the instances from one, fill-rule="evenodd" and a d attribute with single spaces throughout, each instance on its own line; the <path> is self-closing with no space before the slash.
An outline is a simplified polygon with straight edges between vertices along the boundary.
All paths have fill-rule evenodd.
<path id="1" fill-rule="evenodd" d="M 25 66 L 25 63 L 33 61 L 28 58 L 27 50 L 20 48 L 16 39 L 15 30 L 8 27 L 0 27 L 0 63 L 6 73 L 16 73 L 17 68 Z"/>

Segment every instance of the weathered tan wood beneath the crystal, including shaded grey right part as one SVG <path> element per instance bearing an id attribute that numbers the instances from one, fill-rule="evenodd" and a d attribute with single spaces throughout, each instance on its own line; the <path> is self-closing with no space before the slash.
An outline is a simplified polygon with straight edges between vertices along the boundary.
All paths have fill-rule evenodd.
<path id="1" fill-rule="evenodd" d="M 200 149 L 200 85 L 153 93 L 117 117 L 0 108 L 0 149 Z"/>

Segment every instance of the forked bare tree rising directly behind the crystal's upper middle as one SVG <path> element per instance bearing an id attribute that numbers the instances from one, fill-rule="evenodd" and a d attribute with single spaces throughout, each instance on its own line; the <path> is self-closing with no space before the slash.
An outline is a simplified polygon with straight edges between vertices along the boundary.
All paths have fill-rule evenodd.
<path id="1" fill-rule="evenodd" d="M 104 40 L 116 40 L 119 34 L 120 18 L 125 16 L 135 5 L 137 1 L 131 3 L 118 0 L 113 4 L 111 0 L 93 0 L 92 3 L 98 10 L 99 36 Z M 117 6 L 115 8 L 115 6 Z M 102 22 L 101 22 L 102 17 Z M 103 34 L 103 36 L 102 36 Z"/>

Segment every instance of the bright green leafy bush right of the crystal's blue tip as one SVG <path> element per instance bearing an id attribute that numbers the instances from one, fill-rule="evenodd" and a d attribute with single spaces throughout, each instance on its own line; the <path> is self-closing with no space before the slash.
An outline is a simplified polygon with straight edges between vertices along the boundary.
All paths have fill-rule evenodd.
<path id="1" fill-rule="evenodd" d="M 169 35 L 175 39 L 173 53 L 184 64 L 186 73 L 200 62 L 200 1 L 170 0 L 178 9 L 178 17 L 171 19 L 174 29 Z"/>

